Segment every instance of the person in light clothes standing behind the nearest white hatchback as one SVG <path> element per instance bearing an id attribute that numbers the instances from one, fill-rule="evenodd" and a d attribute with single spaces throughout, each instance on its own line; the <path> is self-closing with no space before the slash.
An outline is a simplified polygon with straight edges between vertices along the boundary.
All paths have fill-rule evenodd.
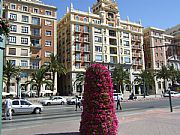
<path id="1" fill-rule="evenodd" d="M 9 120 L 12 120 L 12 100 L 10 99 L 10 97 L 8 97 L 6 100 L 5 100 L 5 119 L 9 119 Z"/>

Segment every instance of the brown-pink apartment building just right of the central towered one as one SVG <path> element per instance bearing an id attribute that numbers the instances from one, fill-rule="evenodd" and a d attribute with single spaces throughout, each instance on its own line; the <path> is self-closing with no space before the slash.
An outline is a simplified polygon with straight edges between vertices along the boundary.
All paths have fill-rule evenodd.
<path id="1" fill-rule="evenodd" d="M 144 29 L 144 56 L 145 56 L 145 68 L 160 70 L 163 65 L 168 64 L 169 47 L 173 36 L 165 34 L 165 30 L 149 27 Z M 168 54 L 168 55 L 167 55 Z M 169 82 L 166 82 L 169 86 Z M 163 80 L 156 79 L 155 88 L 151 88 L 150 94 L 161 94 L 164 90 Z M 153 91 L 154 90 L 154 91 Z"/>

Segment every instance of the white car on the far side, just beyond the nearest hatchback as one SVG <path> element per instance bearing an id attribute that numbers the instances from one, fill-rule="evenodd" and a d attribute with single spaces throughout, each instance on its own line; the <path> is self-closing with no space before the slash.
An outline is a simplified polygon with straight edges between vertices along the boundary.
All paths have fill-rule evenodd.
<path id="1" fill-rule="evenodd" d="M 42 105 L 63 105 L 67 101 L 64 97 L 61 96 L 51 96 L 49 99 L 42 100 Z"/>

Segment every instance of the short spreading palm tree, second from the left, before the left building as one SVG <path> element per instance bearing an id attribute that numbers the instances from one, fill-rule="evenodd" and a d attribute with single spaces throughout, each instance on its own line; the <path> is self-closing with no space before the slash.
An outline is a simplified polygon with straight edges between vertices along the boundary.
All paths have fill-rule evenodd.
<path id="1" fill-rule="evenodd" d="M 37 86 L 38 97 L 40 96 L 41 86 L 43 84 L 52 86 L 52 81 L 45 79 L 45 73 L 47 71 L 47 67 L 41 66 L 40 69 L 32 73 L 32 79 L 30 81 L 26 81 L 26 85 L 32 84 Z"/>

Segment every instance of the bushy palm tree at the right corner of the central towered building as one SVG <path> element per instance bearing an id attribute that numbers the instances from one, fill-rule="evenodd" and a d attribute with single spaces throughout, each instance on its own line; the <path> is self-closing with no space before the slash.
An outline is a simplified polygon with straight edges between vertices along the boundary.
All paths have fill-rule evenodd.
<path id="1" fill-rule="evenodd" d="M 144 85 L 144 98 L 146 93 L 149 91 L 149 87 L 155 84 L 154 81 L 154 71 L 152 70 L 142 70 L 142 72 L 138 75 L 138 77 L 134 80 L 139 85 Z M 147 91 L 146 89 L 147 88 Z"/>

